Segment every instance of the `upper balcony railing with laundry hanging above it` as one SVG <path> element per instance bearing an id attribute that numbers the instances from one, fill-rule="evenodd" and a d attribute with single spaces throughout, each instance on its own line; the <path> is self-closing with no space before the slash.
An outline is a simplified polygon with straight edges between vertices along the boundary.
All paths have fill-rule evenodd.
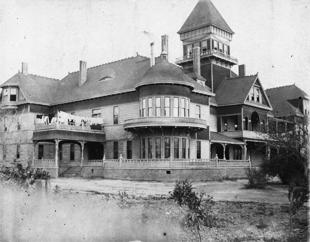
<path id="1" fill-rule="evenodd" d="M 77 125 L 75 123 L 36 123 L 35 130 L 45 129 L 72 129 L 72 130 L 85 130 L 85 131 L 98 131 L 104 132 L 103 125 Z"/>

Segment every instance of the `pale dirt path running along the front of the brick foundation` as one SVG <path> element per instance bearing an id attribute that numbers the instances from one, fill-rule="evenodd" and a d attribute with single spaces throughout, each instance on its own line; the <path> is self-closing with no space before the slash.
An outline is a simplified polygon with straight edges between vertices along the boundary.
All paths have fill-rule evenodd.
<path id="1" fill-rule="evenodd" d="M 288 204 L 287 188 L 284 185 L 270 185 L 265 189 L 244 189 L 247 180 L 194 182 L 197 192 L 205 191 L 215 201 L 255 201 Z M 109 179 L 58 178 L 51 179 L 51 186 L 61 189 L 86 192 L 97 191 L 117 193 L 126 191 L 130 195 L 147 197 L 149 195 L 167 196 L 173 190 L 173 182 L 139 182 Z"/>

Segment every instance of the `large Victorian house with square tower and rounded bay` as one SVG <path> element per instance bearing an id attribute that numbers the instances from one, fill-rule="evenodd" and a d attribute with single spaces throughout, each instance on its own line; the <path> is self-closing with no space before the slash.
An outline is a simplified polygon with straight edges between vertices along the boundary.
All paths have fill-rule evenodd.
<path id="1" fill-rule="evenodd" d="M 2 110 L 17 112 L 3 159 L 29 159 L 55 176 L 154 180 L 162 179 L 161 170 L 150 167 L 176 176 L 172 167 L 184 168 L 179 172 L 189 177 L 204 171 L 197 179 L 207 179 L 206 167 L 219 168 L 219 162 L 227 174 L 228 167 L 258 165 L 265 152 L 257 145 L 269 120 L 286 116 L 273 112 L 274 106 L 282 110 L 278 91 L 266 93 L 257 74 L 246 76 L 244 65 L 238 75 L 231 71 L 238 64 L 230 55 L 234 32 L 210 0 L 197 3 L 178 34 L 183 57 L 176 65 L 167 60 L 167 35 L 157 58 L 151 43 L 150 58 L 137 54 L 91 68 L 80 61 L 79 71 L 62 80 L 29 74 L 22 63 L 22 71 L 1 85 Z M 297 101 L 287 97 L 296 115 L 309 110 L 308 95 L 302 94 Z M 206 169 L 193 170 L 193 164 Z M 136 178 L 137 167 L 148 167 L 142 173 L 149 178 Z M 244 176 L 233 171 L 238 172 Z"/>

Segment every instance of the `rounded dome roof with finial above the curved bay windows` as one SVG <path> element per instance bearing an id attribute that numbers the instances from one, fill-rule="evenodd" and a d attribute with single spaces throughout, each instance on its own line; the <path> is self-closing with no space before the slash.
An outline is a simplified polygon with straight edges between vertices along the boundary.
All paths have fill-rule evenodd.
<path id="1" fill-rule="evenodd" d="M 184 74 L 181 68 L 169 63 L 166 58 L 161 59 L 160 62 L 156 63 L 145 72 L 141 82 L 136 84 L 135 88 L 155 83 L 174 83 L 190 86 L 191 89 L 195 88 L 191 78 Z"/>

